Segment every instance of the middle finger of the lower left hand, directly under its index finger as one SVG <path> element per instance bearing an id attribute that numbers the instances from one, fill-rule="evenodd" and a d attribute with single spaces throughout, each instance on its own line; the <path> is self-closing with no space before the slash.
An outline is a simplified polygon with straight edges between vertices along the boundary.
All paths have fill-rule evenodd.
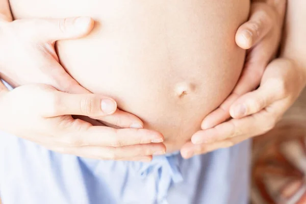
<path id="1" fill-rule="evenodd" d="M 55 147 L 53 150 L 64 154 L 99 160 L 129 160 L 135 157 L 163 155 L 166 152 L 164 144 L 141 144 L 123 147 Z"/>

